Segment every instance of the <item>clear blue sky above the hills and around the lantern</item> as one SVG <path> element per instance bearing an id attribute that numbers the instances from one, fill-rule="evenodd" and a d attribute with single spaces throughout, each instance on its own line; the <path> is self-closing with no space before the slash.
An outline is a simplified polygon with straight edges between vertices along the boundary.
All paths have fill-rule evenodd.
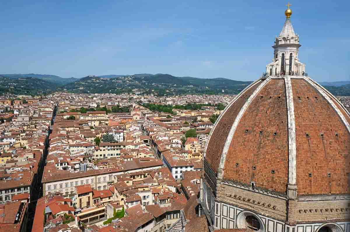
<path id="1" fill-rule="evenodd" d="M 168 73 L 255 80 L 287 1 L 5 1 L 0 73 Z M 299 59 L 316 81 L 350 80 L 349 1 L 291 1 Z"/>

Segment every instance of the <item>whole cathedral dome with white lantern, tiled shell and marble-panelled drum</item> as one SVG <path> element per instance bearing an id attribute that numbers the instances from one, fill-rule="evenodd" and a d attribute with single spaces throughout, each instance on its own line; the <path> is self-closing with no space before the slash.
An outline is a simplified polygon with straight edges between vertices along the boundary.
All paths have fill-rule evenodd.
<path id="1" fill-rule="evenodd" d="M 200 196 L 191 200 L 200 217 L 186 232 L 350 232 L 350 114 L 303 75 L 289 6 L 268 74 L 209 134 Z"/>

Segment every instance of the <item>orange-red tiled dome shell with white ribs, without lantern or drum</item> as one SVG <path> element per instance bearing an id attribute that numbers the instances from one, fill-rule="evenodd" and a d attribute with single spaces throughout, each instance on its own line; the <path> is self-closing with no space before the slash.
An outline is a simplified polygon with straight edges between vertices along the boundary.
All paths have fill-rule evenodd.
<path id="1" fill-rule="evenodd" d="M 205 148 L 205 179 L 287 194 L 349 194 L 350 116 L 306 76 L 270 76 L 224 109 Z"/>

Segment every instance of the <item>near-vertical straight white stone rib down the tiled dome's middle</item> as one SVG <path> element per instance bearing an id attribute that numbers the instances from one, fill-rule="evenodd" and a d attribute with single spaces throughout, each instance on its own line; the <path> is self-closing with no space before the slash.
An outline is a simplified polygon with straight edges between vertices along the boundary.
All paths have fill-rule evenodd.
<path id="1" fill-rule="evenodd" d="M 292 81 L 290 76 L 285 77 L 287 115 L 288 115 L 288 184 L 296 184 L 296 141 L 295 141 L 295 117 Z"/>

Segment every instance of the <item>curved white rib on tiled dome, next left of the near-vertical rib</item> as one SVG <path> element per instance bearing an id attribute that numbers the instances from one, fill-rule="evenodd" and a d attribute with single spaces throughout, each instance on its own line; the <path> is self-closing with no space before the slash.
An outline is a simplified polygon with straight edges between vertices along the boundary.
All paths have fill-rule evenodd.
<path id="1" fill-rule="evenodd" d="M 224 166 L 225 166 L 225 160 L 226 160 L 226 155 L 227 155 L 227 152 L 229 151 L 229 148 L 230 148 L 230 144 L 231 144 L 231 141 L 232 141 L 232 137 L 233 137 L 233 134 L 235 134 L 235 131 L 236 131 L 236 128 L 237 128 L 237 125 L 239 123 L 239 121 L 241 120 L 241 118 L 243 117 L 243 114 L 244 112 L 246 111 L 246 109 L 248 108 L 248 106 L 250 105 L 250 103 L 253 101 L 253 99 L 255 98 L 255 96 L 260 92 L 260 90 L 262 88 L 264 88 L 266 86 L 266 84 L 271 80 L 271 77 L 268 77 L 264 82 L 262 82 L 257 89 L 255 89 L 254 93 L 248 98 L 248 100 L 246 101 L 246 103 L 243 105 L 243 107 L 240 109 L 236 119 L 235 119 L 235 122 L 233 122 L 233 125 L 231 127 L 231 130 L 229 132 L 229 135 L 227 136 L 226 138 L 226 142 L 225 142 L 225 145 L 224 145 L 224 149 L 222 151 L 222 155 L 221 155 L 221 160 L 220 160 L 220 165 L 219 165 L 219 170 L 224 170 Z M 218 170 L 218 177 L 219 177 L 219 172 Z M 221 177 L 219 177 L 220 179 L 223 178 L 223 171 L 221 173 Z"/>

